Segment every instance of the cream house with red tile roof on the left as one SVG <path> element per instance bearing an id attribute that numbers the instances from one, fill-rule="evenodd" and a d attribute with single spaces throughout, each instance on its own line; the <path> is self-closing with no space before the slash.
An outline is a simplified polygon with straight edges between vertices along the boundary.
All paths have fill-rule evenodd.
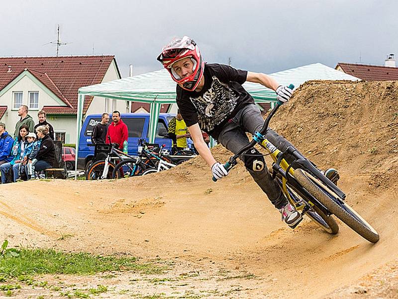
<path id="1" fill-rule="evenodd" d="M 0 121 L 13 134 L 25 104 L 38 123 L 44 110 L 56 140 L 75 143 L 78 89 L 120 79 L 114 56 L 0 57 Z M 87 97 L 83 114 L 128 112 L 124 100 Z"/>

